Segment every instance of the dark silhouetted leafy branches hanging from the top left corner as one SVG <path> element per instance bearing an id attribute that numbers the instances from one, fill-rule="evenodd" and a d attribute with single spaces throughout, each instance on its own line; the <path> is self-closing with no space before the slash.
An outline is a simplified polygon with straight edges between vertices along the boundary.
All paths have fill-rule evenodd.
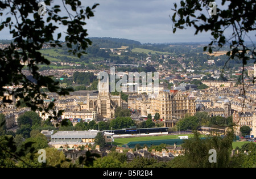
<path id="1" fill-rule="evenodd" d="M 39 52 L 45 44 L 51 47 L 62 44 L 60 38 L 65 35 L 65 44 L 69 48 L 69 53 L 81 57 L 86 53 L 85 50 L 92 42 L 86 38 L 88 36 L 85 20 L 94 16 L 93 7 L 84 7 L 81 1 L 62 1 L 66 16 L 61 15 L 60 5 L 54 5 L 51 0 L 46 3 L 47 14 L 44 16 L 38 14 L 38 1 L 1 1 L 0 9 L 3 19 L 0 23 L 0 31 L 9 28 L 13 41 L 5 49 L 0 50 L 0 96 L 3 97 L 3 103 L 11 103 L 3 95 L 9 93 L 15 98 L 22 99 L 24 103 L 32 110 L 43 109 L 48 112 L 53 108 L 54 103 L 43 106 L 43 98 L 46 94 L 40 92 L 41 87 L 46 87 L 49 92 L 56 92 L 59 95 L 67 95 L 71 89 L 60 88 L 51 76 L 43 76 L 39 73 L 38 65 L 49 65 L 50 61 L 44 58 Z M 69 9 L 69 10 L 68 10 Z M 53 25 L 56 24 L 56 25 Z M 66 32 L 55 33 L 63 26 Z M 31 73 L 35 82 L 26 78 L 22 73 L 25 67 Z M 8 74 L 8 75 L 6 75 Z M 19 86 L 13 91 L 6 90 L 5 86 Z M 18 101 L 17 106 L 20 105 Z M 60 116 L 61 112 L 53 113 L 54 117 Z M 57 118 L 57 117 L 56 117 Z"/>

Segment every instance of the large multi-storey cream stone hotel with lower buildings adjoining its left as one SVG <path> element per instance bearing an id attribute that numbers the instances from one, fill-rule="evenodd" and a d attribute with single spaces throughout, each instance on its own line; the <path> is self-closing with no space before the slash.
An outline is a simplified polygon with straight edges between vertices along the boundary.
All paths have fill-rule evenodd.
<path id="1" fill-rule="evenodd" d="M 177 90 L 159 91 L 155 97 L 147 98 L 129 96 L 128 105 L 130 109 L 141 111 L 142 116 L 156 113 L 160 114 L 163 121 L 177 120 L 184 118 L 186 114 L 194 116 L 196 113 L 195 96 L 191 92 L 181 92 Z"/>

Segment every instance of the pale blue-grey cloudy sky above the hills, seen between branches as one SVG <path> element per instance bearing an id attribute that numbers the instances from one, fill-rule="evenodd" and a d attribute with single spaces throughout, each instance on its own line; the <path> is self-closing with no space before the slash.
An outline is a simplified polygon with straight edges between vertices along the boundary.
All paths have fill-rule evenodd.
<path id="1" fill-rule="evenodd" d="M 89 37 L 113 37 L 151 44 L 211 41 L 209 32 L 195 36 L 193 27 L 172 32 L 173 23 L 170 16 L 174 11 L 171 9 L 174 8 L 175 2 L 179 5 L 180 0 L 82 0 L 81 2 L 85 7 L 92 7 L 94 3 L 100 4 L 94 11 L 94 17 L 86 19 L 85 28 L 88 29 Z M 216 2 L 217 5 L 221 5 L 221 0 Z M 60 0 L 54 0 L 53 3 L 62 4 Z M 203 13 L 208 15 L 207 10 Z M 61 15 L 67 15 L 64 8 Z M 5 28 L 0 32 L 0 39 L 11 39 L 7 30 Z M 56 34 L 63 31 L 65 29 L 59 27 Z M 251 36 L 255 40 L 255 33 Z"/>

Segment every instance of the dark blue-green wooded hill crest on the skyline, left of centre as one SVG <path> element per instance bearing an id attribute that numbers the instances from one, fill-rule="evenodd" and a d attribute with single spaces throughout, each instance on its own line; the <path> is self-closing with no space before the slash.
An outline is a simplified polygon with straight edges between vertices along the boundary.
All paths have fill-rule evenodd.
<path id="1" fill-rule="evenodd" d="M 90 37 L 89 39 L 100 48 L 121 48 L 122 46 L 141 45 L 139 41 L 111 37 Z"/>

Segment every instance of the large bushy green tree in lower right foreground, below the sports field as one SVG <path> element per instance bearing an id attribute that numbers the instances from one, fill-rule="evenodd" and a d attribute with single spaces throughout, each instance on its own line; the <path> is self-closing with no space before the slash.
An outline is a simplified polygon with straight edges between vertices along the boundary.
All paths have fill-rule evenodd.
<path id="1" fill-rule="evenodd" d="M 175 159 L 174 163 L 176 166 L 181 167 L 185 161 L 186 164 L 184 166 L 191 168 L 230 167 L 230 153 L 232 150 L 233 138 L 234 135 L 230 132 L 224 138 L 214 136 L 201 139 L 200 134 L 195 132 L 193 138 L 186 139 L 184 144 L 182 144 L 185 151 L 184 156 Z M 209 150 L 212 149 L 216 150 L 217 163 L 209 162 Z"/>

